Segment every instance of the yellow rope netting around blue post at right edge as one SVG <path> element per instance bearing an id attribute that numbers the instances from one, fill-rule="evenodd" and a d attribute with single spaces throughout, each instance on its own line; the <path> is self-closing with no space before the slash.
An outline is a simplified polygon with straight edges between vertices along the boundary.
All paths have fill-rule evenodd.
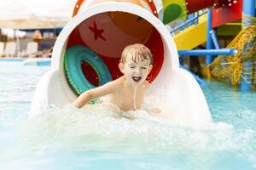
<path id="1" fill-rule="evenodd" d="M 253 17 L 245 17 L 255 21 Z M 256 25 L 243 28 L 227 48 L 236 48 L 235 56 L 218 56 L 202 69 L 202 75 L 208 79 L 229 80 L 233 85 L 243 79 L 256 87 Z M 249 65 L 246 64 L 248 59 L 252 61 Z"/>

